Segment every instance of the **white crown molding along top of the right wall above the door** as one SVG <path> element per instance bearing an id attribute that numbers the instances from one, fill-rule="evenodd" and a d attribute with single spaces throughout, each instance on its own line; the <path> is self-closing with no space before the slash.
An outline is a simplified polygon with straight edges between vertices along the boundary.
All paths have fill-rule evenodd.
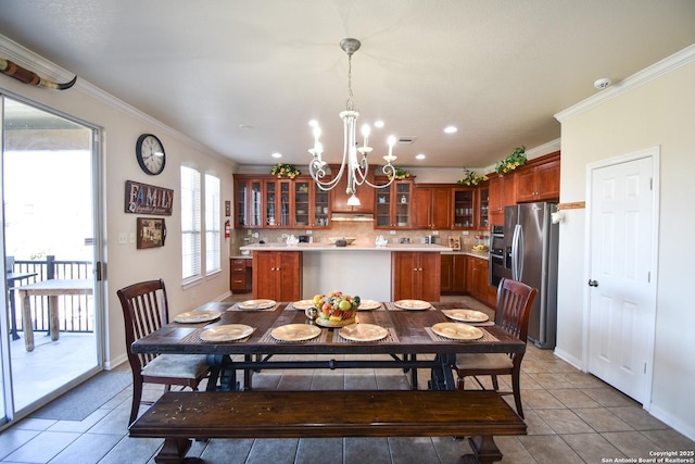
<path id="1" fill-rule="evenodd" d="M 599 91 L 598 93 L 589 97 L 587 99 L 568 108 L 567 110 L 563 110 L 559 113 L 555 114 L 555 118 L 560 123 L 565 121 L 571 120 L 574 116 L 578 116 L 589 110 L 592 110 L 596 106 L 599 106 L 606 103 L 614 98 L 617 98 L 628 91 L 634 90 L 635 88 L 647 84 L 658 77 L 661 77 L 665 74 L 668 74 L 674 70 L 678 70 L 681 66 L 692 63 L 695 61 L 695 43 L 685 47 L 683 50 L 673 53 L 672 55 L 665 58 L 664 60 L 648 66 L 630 77 L 624 78 L 623 80 L 615 84 L 607 89 Z"/>

